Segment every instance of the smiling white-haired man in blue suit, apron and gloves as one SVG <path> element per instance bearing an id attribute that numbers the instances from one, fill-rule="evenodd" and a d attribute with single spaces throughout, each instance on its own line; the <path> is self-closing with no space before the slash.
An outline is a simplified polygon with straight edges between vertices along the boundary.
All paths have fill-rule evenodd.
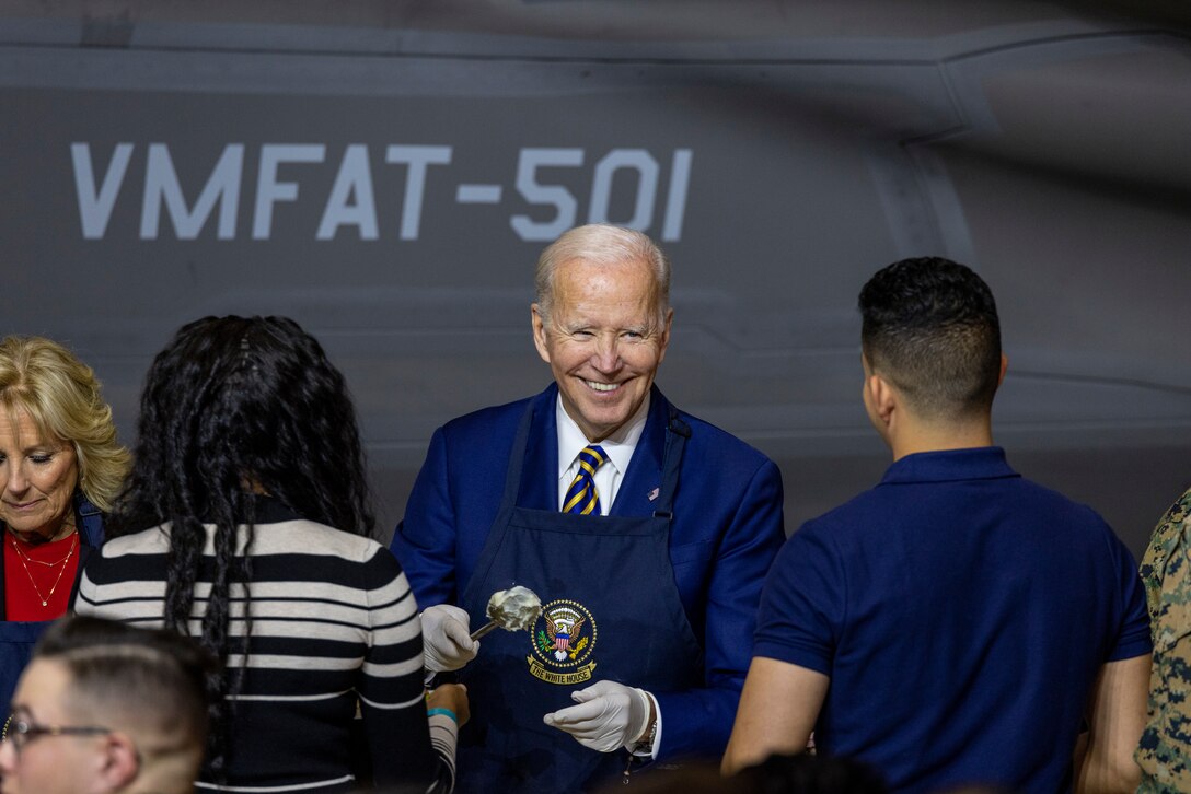
<path id="1" fill-rule="evenodd" d="M 781 479 L 654 385 L 669 277 L 640 232 L 565 233 L 531 307 L 554 383 L 430 442 L 393 551 L 429 606 L 426 665 L 462 668 L 473 698 L 461 792 L 586 789 L 723 751 L 784 539 Z M 469 629 L 512 583 L 541 617 L 479 651 Z"/>

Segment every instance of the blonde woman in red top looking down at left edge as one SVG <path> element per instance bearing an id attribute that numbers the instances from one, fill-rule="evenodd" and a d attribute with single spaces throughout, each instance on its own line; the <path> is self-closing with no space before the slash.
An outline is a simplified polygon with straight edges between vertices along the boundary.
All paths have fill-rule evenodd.
<path id="1" fill-rule="evenodd" d="M 0 702 L 66 613 L 129 465 L 89 367 L 50 339 L 0 340 Z"/>

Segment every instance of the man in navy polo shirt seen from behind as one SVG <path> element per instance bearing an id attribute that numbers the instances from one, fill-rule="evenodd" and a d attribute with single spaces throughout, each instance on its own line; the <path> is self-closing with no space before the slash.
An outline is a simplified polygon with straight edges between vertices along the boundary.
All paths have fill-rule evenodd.
<path id="1" fill-rule="evenodd" d="M 865 285 L 860 311 L 865 407 L 893 465 L 771 569 L 725 771 L 813 731 L 821 754 L 893 790 L 1133 790 L 1145 594 L 1103 519 L 993 446 L 1006 361 L 987 285 L 905 260 Z"/>

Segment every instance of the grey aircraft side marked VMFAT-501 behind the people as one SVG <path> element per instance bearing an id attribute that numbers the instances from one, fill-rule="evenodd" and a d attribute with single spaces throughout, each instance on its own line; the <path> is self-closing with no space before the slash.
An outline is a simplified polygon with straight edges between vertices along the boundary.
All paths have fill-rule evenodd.
<path id="1" fill-rule="evenodd" d="M 949 256 L 1000 307 L 997 440 L 1140 555 L 1191 484 L 1189 30 L 1174 2 L 7 2 L 0 333 L 71 345 L 131 443 L 180 324 L 294 317 L 349 379 L 387 537 L 434 427 L 548 382 L 529 302 L 551 225 L 632 224 L 674 261 L 660 386 L 778 461 L 793 531 L 888 463 L 860 286 Z M 113 176 L 91 237 L 73 145 L 94 189 Z M 282 145 L 322 149 L 278 167 L 297 196 L 254 237 Z M 391 146 L 450 162 L 411 194 Z M 229 148 L 235 223 L 217 202 L 187 231 Z M 530 169 L 541 150 L 570 164 Z M 318 239 L 349 177 L 375 236 Z"/>

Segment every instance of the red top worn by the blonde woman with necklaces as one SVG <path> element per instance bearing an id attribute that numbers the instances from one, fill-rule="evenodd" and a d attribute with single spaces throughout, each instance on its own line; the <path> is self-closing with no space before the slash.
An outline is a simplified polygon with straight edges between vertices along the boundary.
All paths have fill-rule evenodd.
<path id="1" fill-rule="evenodd" d="M 77 570 L 77 532 L 61 540 L 31 546 L 6 531 L 4 533 L 4 595 L 7 612 L 5 618 L 7 620 L 61 618 L 67 613 L 70 588 L 74 586 Z"/>

